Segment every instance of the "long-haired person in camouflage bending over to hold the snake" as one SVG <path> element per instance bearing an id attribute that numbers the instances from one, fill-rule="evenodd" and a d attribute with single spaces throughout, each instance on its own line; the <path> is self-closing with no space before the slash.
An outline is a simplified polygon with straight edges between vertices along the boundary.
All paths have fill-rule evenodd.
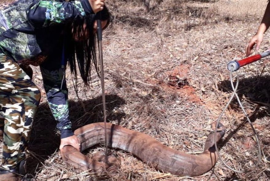
<path id="1" fill-rule="evenodd" d="M 77 78 L 76 66 L 89 85 L 96 60 L 95 13 L 102 28 L 110 23 L 104 0 L 16 0 L 0 9 L 0 121 L 3 135 L 0 180 L 20 180 L 25 152 L 41 93 L 29 65 L 40 66 L 51 112 L 65 145 L 80 149 L 68 112 L 66 65 Z"/>

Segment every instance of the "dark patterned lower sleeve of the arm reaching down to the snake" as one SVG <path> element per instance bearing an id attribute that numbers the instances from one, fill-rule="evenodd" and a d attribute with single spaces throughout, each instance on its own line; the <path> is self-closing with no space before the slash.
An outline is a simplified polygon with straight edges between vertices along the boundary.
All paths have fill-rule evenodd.
<path id="1" fill-rule="evenodd" d="M 68 90 L 63 68 L 48 70 L 40 66 L 47 100 L 61 132 L 61 139 L 74 135 L 68 111 Z"/>

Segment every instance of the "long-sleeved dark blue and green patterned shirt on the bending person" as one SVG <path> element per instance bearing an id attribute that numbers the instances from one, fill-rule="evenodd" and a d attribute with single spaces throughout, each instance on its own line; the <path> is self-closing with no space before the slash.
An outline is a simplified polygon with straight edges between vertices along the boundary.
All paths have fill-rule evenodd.
<path id="1" fill-rule="evenodd" d="M 93 14 L 88 0 L 15 0 L 0 5 L 0 55 L 19 64 L 39 65 L 61 138 L 73 135 L 68 113 L 65 69 L 61 68 L 64 25 Z"/>

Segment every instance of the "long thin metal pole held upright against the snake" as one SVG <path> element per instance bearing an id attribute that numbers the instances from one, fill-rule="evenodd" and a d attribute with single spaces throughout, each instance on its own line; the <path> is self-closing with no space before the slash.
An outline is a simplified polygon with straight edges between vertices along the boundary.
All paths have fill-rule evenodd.
<path id="1" fill-rule="evenodd" d="M 104 68 L 103 68 L 103 51 L 102 51 L 102 26 L 101 26 L 101 13 L 97 13 L 97 25 L 98 25 L 98 51 L 99 51 L 99 62 L 100 62 L 100 76 L 101 76 L 101 88 L 102 88 L 102 103 L 103 103 L 103 114 L 104 114 L 104 132 L 105 132 L 105 148 L 106 155 L 108 154 L 108 143 L 107 143 L 107 128 L 106 128 L 106 102 L 105 102 L 105 86 L 104 86 Z"/>

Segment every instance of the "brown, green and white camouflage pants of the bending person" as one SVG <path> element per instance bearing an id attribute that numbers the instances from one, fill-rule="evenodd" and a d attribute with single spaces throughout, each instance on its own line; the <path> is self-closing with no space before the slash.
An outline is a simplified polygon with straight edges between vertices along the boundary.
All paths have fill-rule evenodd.
<path id="1" fill-rule="evenodd" d="M 0 114 L 5 118 L 2 168 L 17 169 L 25 159 L 33 117 L 40 91 L 20 66 L 8 56 L 0 56 Z"/>

